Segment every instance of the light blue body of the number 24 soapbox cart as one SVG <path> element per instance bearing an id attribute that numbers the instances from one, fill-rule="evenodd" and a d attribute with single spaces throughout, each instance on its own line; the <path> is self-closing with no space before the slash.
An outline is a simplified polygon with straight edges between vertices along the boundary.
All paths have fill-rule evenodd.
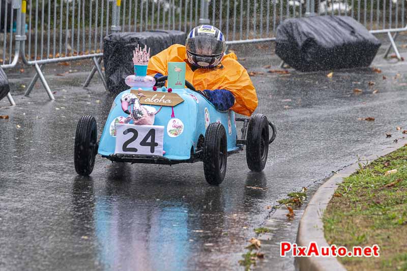
<path id="1" fill-rule="evenodd" d="M 127 91 L 120 93 L 115 99 L 112 109 L 107 117 L 105 127 L 99 142 L 98 153 L 102 156 L 109 156 L 114 154 L 115 137 L 110 135 L 110 124 L 115 118 L 127 114 L 123 112 L 121 107 L 120 98 L 124 93 L 130 93 L 131 89 L 137 90 L 138 88 L 130 88 Z M 142 88 L 143 91 L 152 91 L 152 88 Z M 161 92 L 158 88 L 157 92 Z M 167 124 L 171 120 L 171 107 L 163 106 L 161 111 L 155 115 L 154 125 L 164 126 L 164 157 L 170 160 L 187 160 L 191 156 L 191 147 L 195 153 L 195 148 L 198 143 L 200 135 L 205 136 L 205 112 L 209 113 L 210 123 L 220 122 L 226 131 L 227 137 L 227 150 L 232 152 L 239 147 L 236 146 L 236 122 L 235 112 L 228 110 L 220 112 L 202 95 L 191 91 L 188 88 L 173 89 L 173 93 L 177 93 L 184 99 L 184 102 L 173 107 L 175 117 L 181 119 L 184 124 L 184 131 L 177 137 L 170 137 L 167 134 Z M 152 105 L 157 110 L 160 106 Z M 230 122 L 230 123 L 229 123 Z"/>

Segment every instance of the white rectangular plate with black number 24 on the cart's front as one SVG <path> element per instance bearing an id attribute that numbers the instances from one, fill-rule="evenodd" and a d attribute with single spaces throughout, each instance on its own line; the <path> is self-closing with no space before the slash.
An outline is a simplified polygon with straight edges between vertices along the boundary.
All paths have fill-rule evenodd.
<path id="1" fill-rule="evenodd" d="M 162 156 L 164 126 L 116 124 L 116 154 Z"/>

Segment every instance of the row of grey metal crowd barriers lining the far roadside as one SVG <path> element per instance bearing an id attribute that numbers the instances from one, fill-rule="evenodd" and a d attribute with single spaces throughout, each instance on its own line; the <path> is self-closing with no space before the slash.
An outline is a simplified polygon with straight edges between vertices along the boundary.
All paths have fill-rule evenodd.
<path id="1" fill-rule="evenodd" d="M 10 3 L 11 2 L 11 3 Z M 405 24 L 405 0 L 0 0 L 3 29 L 3 68 L 15 67 L 19 58 L 34 66 L 51 100 L 52 92 L 42 72 L 45 65 L 92 58 L 94 67 L 84 86 L 100 67 L 103 38 L 111 32 L 173 29 L 187 32 L 195 25 L 212 23 L 222 29 L 227 44 L 274 41 L 277 26 L 287 18 L 309 15 L 352 16 L 373 34 L 387 33 L 396 56 L 394 39 Z M 4 9 L 7 11 L 7 8 Z M 3 10 L 2 10 L 3 11 Z M 2 18 L 4 16 L 4 18 Z M 15 18 L 15 20 L 14 20 Z M 12 28 L 15 26 L 15 31 Z M 394 36 L 391 34 L 394 33 Z M 0 59 L 1 60 L 1 59 Z M 1 62 L 1 61 L 0 61 Z M 11 98 L 11 96 L 10 96 Z"/>

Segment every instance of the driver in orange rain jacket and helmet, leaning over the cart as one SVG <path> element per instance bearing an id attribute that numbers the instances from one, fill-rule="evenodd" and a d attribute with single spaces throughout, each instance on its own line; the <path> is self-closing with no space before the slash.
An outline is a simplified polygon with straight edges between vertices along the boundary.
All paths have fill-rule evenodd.
<path id="1" fill-rule="evenodd" d="M 220 30 L 199 25 L 189 33 L 186 45 L 171 45 L 150 58 L 147 73 L 158 78 L 168 75 L 168 62 L 186 62 L 185 79 L 203 89 L 221 111 L 229 108 L 250 116 L 257 107 L 256 90 L 235 53 L 225 54 L 226 42 Z"/>

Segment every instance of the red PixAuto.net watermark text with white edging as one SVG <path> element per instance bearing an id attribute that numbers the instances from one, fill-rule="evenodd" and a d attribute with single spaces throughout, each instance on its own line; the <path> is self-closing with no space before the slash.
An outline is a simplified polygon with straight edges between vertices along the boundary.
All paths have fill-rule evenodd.
<path id="1" fill-rule="evenodd" d="M 280 256 L 293 257 L 379 257 L 380 247 L 353 247 L 347 250 L 345 247 L 335 245 L 318 247 L 315 242 L 310 242 L 308 246 L 297 246 L 296 243 L 280 242 Z"/>

